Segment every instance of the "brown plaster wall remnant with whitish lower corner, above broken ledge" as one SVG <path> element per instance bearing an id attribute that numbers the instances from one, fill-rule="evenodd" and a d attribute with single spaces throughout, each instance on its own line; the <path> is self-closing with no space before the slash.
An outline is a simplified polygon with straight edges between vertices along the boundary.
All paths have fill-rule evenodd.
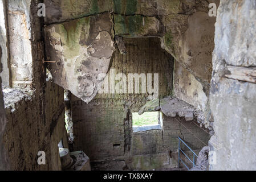
<path id="1" fill-rule="evenodd" d="M 218 1 L 215 3 L 218 5 Z M 207 11 L 198 11 L 189 16 L 187 21 L 188 29 L 180 35 L 178 43 L 172 43 L 178 45 L 177 49 L 180 51 L 175 57 L 177 64 L 174 68 L 174 93 L 178 98 L 204 111 L 212 77 L 216 17 L 210 17 Z M 165 38 L 168 35 L 167 33 Z"/>

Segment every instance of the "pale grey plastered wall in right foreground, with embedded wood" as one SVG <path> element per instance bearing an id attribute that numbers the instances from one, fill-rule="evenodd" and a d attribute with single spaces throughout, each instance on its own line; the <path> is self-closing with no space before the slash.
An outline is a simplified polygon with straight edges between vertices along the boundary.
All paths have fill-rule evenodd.
<path id="1" fill-rule="evenodd" d="M 210 100 L 216 132 L 209 142 L 212 170 L 256 169 L 256 85 L 226 77 L 256 66 L 255 16 L 253 0 L 222 0 L 218 8 Z M 230 73 L 227 65 L 238 72 Z"/>

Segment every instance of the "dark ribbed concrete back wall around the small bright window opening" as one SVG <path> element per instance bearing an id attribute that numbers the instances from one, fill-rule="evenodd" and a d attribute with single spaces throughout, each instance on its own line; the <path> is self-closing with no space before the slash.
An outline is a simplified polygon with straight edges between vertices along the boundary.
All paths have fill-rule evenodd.
<path id="1" fill-rule="evenodd" d="M 173 58 L 160 47 L 159 38 L 125 39 L 127 53 L 116 51 L 111 68 L 117 73 L 159 73 L 160 97 L 172 93 Z M 109 75 L 110 73 L 108 73 Z M 83 150 L 92 162 L 93 169 L 161 169 L 177 167 L 177 159 L 169 152 L 177 150 L 177 136 L 182 136 L 194 149 L 189 131 L 180 130 L 173 118 L 164 118 L 164 130 L 132 133 L 132 113 L 147 102 L 148 94 L 97 94 L 90 104 L 72 96 L 74 149 Z M 193 123 L 189 129 L 204 134 Z M 182 128 L 182 127 L 181 127 Z"/>

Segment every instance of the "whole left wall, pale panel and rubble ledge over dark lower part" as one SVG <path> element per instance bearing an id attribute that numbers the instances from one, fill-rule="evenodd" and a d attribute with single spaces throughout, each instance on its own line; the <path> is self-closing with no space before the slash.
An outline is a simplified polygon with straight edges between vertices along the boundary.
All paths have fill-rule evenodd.
<path id="1" fill-rule="evenodd" d="M 42 18 L 37 16 L 39 2 L 7 1 L 7 34 L 15 88 L 3 90 L 7 124 L 1 139 L 13 170 L 61 170 L 60 139 L 64 147 L 68 147 L 64 91 L 50 80 L 46 82 L 43 67 Z M 46 165 L 38 165 L 38 151 L 46 152 Z"/>

